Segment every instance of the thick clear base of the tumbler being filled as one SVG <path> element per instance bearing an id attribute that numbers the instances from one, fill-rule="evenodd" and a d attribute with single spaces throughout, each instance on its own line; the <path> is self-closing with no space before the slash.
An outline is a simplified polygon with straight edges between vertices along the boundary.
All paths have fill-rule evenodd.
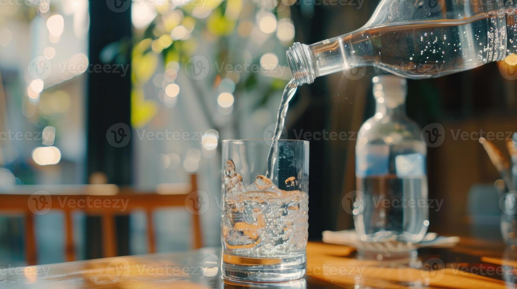
<path id="1" fill-rule="evenodd" d="M 284 282 L 300 279 L 307 270 L 306 254 L 285 258 L 250 258 L 223 253 L 223 278 L 242 282 Z"/>

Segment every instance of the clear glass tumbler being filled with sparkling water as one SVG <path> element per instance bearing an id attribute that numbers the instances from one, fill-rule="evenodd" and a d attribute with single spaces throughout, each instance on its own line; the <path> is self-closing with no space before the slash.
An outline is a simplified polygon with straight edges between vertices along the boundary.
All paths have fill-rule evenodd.
<path id="1" fill-rule="evenodd" d="M 223 140 L 222 166 L 223 277 L 253 282 L 302 278 L 309 142 Z"/>

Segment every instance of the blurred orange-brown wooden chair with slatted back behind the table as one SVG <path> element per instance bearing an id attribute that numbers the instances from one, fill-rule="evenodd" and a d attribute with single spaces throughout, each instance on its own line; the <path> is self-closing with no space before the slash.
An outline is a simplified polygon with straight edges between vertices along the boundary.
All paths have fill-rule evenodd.
<path id="1" fill-rule="evenodd" d="M 48 194 L 51 192 L 52 194 Z M 156 252 L 153 226 L 153 211 L 159 207 L 185 207 L 192 216 L 193 248 L 203 246 L 197 195 L 197 178 L 190 176 L 190 184 L 161 185 L 154 191 L 135 190 L 115 185 L 79 185 L 79 186 L 17 186 L 13 190 L 0 193 L 0 212 L 23 212 L 25 215 L 25 252 L 28 265 L 37 264 L 36 235 L 34 215 L 41 215 L 50 210 L 63 211 L 65 214 L 65 259 L 75 260 L 73 241 L 72 213 L 83 211 L 87 215 L 100 215 L 102 224 L 103 256 L 115 256 L 117 252 L 115 215 L 129 214 L 140 209 L 147 216 L 147 239 L 149 253 Z M 67 204 L 63 205 L 66 200 Z M 118 201 L 117 201 L 118 200 Z M 120 200 L 127 202 L 121 212 Z M 88 204 L 89 202 L 89 204 Z M 117 204 L 115 204 L 117 202 Z M 110 205 L 106 205 L 110 204 Z"/>

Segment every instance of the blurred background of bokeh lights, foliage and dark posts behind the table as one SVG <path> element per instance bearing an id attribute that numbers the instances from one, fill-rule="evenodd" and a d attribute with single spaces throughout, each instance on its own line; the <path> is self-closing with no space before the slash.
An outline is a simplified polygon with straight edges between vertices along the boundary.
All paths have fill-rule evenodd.
<path id="1" fill-rule="evenodd" d="M 195 174 L 209 204 L 200 214 L 202 246 L 220 246 L 221 140 L 270 137 L 291 79 L 288 47 L 355 30 L 377 3 L 4 2 L 0 190 L 114 184 L 158 191 Z M 486 236 L 475 226 L 484 222 L 483 230 L 493 227 L 489 235 L 500 238 L 498 172 L 476 139 L 454 139 L 452 132 L 515 130 L 515 64 L 408 81 L 408 116 L 421 127 L 440 123 L 446 132 L 441 146 L 428 148 L 429 198 L 444 200 L 439 212 L 430 211 L 430 231 Z M 358 79 L 336 73 L 300 87 L 286 138 L 357 132 L 374 113 L 371 78 L 379 73 L 367 68 Z M 323 230 L 353 227 L 341 201 L 355 189 L 355 139 L 308 140 L 309 237 L 320 239 Z M 495 144 L 506 152 L 503 141 Z M 185 206 L 151 214 L 155 251 L 192 248 Z M 115 216 L 115 254 L 149 252 L 147 216 L 142 210 Z M 101 217 L 74 211 L 71 218 L 74 259 L 103 256 Z M 56 210 L 35 216 L 38 264 L 67 260 L 65 221 Z M 23 214 L 0 211 L 0 266 L 27 264 L 26 227 Z"/>

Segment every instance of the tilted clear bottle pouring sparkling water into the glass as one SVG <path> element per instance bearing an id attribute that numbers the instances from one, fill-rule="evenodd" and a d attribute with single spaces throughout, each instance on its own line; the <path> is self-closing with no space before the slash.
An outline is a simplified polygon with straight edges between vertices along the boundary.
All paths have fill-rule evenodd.
<path id="1" fill-rule="evenodd" d="M 514 0 L 383 0 L 363 27 L 311 45 L 294 43 L 287 59 L 302 85 L 362 66 L 407 78 L 438 77 L 516 52 Z"/>

